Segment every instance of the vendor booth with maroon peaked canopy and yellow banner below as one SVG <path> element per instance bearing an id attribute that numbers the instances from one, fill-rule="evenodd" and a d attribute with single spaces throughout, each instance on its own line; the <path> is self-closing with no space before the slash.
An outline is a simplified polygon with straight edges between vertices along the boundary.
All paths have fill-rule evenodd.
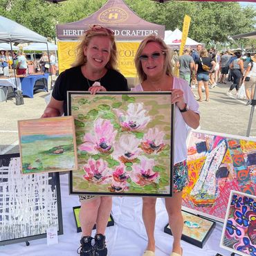
<path id="1" fill-rule="evenodd" d="M 57 25 L 57 43 L 60 72 L 75 60 L 75 46 L 79 37 L 93 24 L 115 32 L 119 69 L 126 77 L 135 77 L 134 56 L 139 42 L 147 35 L 165 36 L 165 26 L 138 17 L 122 0 L 109 0 L 93 15 L 80 21 Z"/>

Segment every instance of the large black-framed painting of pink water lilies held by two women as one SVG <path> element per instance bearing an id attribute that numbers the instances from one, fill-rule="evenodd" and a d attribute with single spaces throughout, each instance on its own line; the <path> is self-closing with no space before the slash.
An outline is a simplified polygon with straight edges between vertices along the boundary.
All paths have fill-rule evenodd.
<path id="1" fill-rule="evenodd" d="M 70 175 L 70 193 L 171 196 L 170 97 L 170 92 L 68 91 L 78 158 L 78 171 Z"/>

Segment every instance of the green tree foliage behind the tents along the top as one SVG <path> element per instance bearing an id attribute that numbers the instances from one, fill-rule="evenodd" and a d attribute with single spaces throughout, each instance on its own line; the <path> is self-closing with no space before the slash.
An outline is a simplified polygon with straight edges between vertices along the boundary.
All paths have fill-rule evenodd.
<path id="1" fill-rule="evenodd" d="M 190 2 L 124 0 L 136 14 L 150 22 L 165 25 L 166 30 L 183 28 L 185 15 L 191 17 L 189 37 L 211 46 L 225 46 L 228 35 L 255 30 L 256 8 L 241 7 L 237 2 Z M 55 39 L 56 24 L 65 24 L 89 17 L 107 0 L 68 0 L 58 4 L 44 0 L 0 0 L 1 15 L 35 32 Z M 239 39 L 237 43 L 255 46 L 255 41 Z"/>

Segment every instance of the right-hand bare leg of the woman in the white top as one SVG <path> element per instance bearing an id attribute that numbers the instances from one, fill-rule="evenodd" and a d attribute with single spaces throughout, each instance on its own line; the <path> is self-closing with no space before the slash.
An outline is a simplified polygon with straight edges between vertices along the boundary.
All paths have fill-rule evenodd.
<path id="1" fill-rule="evenodd" d="M 182 192 L 174 193 L 174 196 L 165 198 L 165 208 L 169 217 L 169 225 L 174 241 L 172 251 L 181 255 L 181 235 L 183 230 L 183 217 L 181 214 Z"/>

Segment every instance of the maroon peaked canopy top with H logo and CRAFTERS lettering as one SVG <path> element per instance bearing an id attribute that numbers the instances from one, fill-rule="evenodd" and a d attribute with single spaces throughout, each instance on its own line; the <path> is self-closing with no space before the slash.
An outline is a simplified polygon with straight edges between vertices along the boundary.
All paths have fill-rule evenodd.
<path id="1" fill-rule="evenodd" d="M 85 19 L 57 25 L 57 38 L 77 40 L 93 24 L 113 30 L 118 41 L 138 41 L 151 34 L 165 36 L 165 26 L 141 19 L 122 0 L 109 0 Z"/>

